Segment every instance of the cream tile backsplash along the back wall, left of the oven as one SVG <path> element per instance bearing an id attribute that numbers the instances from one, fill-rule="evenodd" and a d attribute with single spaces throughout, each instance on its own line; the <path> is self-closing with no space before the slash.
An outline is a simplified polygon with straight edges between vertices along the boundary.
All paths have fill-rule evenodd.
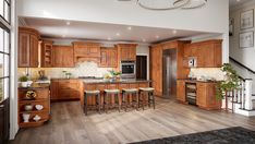
<path id="1" fill-rule="evenodd" d="M 68 71 L 72 73 L 71 77 L 77 77 L 77 76 L 97 76 L 101 77 L 106 73 L 109 73 L 109 70 L 112 70 L 112 68 L 99 68 L 96 62 L 81 62 L 75 65 L 75 68 L 31 68 L 28 69 L 28 73 L 31 77 L 38 79 L 39 70 L 45 70 L 45 75 L 48 79 L 51 77 L 63 77 L 62 71 Z M 26 74 L 25 68 L 19 68 L 19 77 L 21 75 Z"/>

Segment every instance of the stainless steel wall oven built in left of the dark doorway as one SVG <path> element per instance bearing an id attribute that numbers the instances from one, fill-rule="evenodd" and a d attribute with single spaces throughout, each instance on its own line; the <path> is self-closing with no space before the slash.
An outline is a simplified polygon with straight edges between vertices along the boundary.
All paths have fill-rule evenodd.
<path id="1" fill-rule="evenodd" d="M 122 77 L 126 79 L 135 79 L 136 74 L 136 68 L 135 68 L 135 61 L 121 61 L 121 68 Z"/>

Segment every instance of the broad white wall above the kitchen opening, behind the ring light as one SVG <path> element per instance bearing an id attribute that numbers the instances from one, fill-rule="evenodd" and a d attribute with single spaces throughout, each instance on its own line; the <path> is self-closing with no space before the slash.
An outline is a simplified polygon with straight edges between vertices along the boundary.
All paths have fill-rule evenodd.
<path id="1" fill-rule="evenodd" d="M 228 32 L 229 1 L 195 10 L 149 11 L 117 0 L 19 0 L 19 16 L 113 23 L 201 32 Z"/>

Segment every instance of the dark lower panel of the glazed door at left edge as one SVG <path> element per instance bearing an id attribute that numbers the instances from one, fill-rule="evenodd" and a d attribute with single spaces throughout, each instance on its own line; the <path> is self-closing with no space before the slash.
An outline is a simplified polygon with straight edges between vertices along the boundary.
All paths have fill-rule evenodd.
<path id="1" fill-rule="evenodd" d="M 10 133 L 10 99 L 0 103 L 0 143 L 7 144 Z"/>

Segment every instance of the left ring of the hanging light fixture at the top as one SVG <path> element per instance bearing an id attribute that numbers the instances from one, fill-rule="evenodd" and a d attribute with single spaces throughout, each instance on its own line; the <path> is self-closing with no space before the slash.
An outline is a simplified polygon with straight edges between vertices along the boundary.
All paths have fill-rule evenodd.
<path id="1" fill-rule="evenodd" d="M 173 10 L 186 5 L 190 0 L 137 0 L 139 7 L 147 10 Z"/>

